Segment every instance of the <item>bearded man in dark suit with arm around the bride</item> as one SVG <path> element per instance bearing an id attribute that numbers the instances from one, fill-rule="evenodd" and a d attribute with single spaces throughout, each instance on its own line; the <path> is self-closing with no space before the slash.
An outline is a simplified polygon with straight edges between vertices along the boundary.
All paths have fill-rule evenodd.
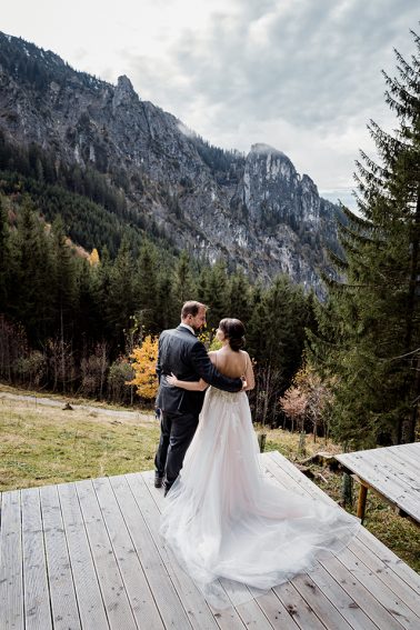
<path id="1" fill-rule="evenodd" d="M 186 302 L 179 327 L 163 330 L 159 338 L 156 370 L 159 391 L 156 403 L 161 418 L 160 441 L 154 458 L 154 487 L 160 488 L 164 480 L 164 494 L 182 468 L 204 400 L 203 391 L 172 387 L 166 377 L 173 372 L 184 381 L 199 381 L 202 378 L 209 384 L 231 392 L 242 388 L 241 379 L 230 379 L 217 371 L 204 346 L 196 338 L 196 332 L 206 326 L 206 310 L 207 307 L 200 302 Z"/>

